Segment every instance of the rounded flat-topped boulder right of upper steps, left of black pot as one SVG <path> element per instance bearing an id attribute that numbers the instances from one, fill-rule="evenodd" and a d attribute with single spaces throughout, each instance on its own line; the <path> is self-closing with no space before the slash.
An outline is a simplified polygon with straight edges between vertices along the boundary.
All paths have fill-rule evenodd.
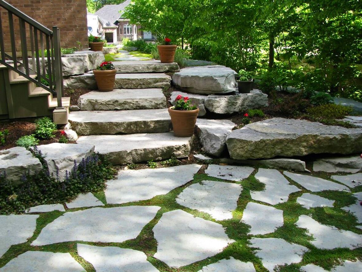
<path id="1" fill-rule="evenodd" d="M 235 92 L 235 71 L 223 66 L 190 67 L 174 73 L 173 84 L 195 94 Z"/>

